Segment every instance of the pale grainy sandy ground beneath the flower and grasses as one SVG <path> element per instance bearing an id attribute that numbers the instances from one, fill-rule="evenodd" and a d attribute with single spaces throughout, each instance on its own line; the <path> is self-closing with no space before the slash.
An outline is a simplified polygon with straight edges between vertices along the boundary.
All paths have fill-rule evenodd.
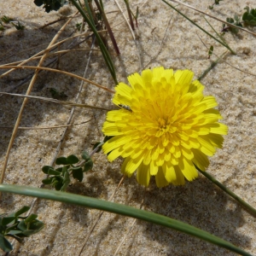
<path id="1" fill-rule="evenodd" d="M 143 67 L 150 61 L 147 67 L 164 66 L 172 67 L 175 70 L 189 68 L 195 73 L 196 78 L 215 59 L 214 56 L 212 56 L 212 60 L 208 59 L 207 48 L 201 43 L 201 40 L 207 47 L 211 44 L 214 45 L 214 52 L 218 55 L 226 50 L 160 0 L 148 1 L 144 5 L 143 3 L 144 1 L 131 1 L 133 10 L 137 6 L 140 9 L 138 28 L 135 34 Z M 224 20 L 227 16 L 233 16 L 235 13 L 241 15 L 246 4 L 255 8 L 253 0 L 247 1 L 247 3 L 241 0 L 225 0 L 213 10 L 207 9 L 213 0 L 203 2 L 189 0 L 187 3 Z M 124 6 L 123 3 L 121 5 Z M 72 15 L 75 12 L 73 8 L 66 6 L 58 12 L 47 14 L 44 9 L 38 8 L 29 0 L 9 0 L 8 2 L 0 0 L 0 6 L 1 17 L 3 15 L 10 16 L 15 20 L 20 20 L 26 26 L 24 31 L 8 28 L 2 33 L 0 37 L 1 64 L 27 59 L 45 49 L 65 20 L 44 29 L 39 28 L 51 21 L 58 20 L 63 15 Z M 121 55 L 117 56 L 114 53 L 113 46 L 109 42 L 110 53 L 113 56 L 118 80 L 126 82 L 127 75 L 140 70 L 136 44 L 113 1 L 106 1 L 105 9 L 111 26 L 113 26 Z M 184 7 L 179 7 L 179 9 L 189 15 L 197 24 L 211 31 L 202 15 Z M 207 20 L 218 32 L 221 30 L 220 22 L 210 18 Z M 81 22 L 80 17 L 74 19 L 67 26 L 59 40 L 73 35 L 75 24 L 78 22 Z M 251 29 L 256 32 L 255 28 Z M 224 124 L 229 126 L 229 134 L 224 138 L 224 148 L 218 150 L 218 153 L 211 158 L 208 172 L 237 195 L 240 195 L 243 200 L 256 207 L 254 196 L 256 191 L 255 37 L 247 32 L 239 32 L 238 36 L 227 33 L 224 38 L 237 55 L 227 54 L 224 61 L 218 63 L 206 78 L 201 80 L 202 84 L 206 85 L 205 94 L 216 96 L 218 108 L 224 117 Z M 71 42 L 72 40 L 61 45 L 60 49 L 67 49 Z M 79 47 L 90 49 L 90 42 L 81 44 Z M 59 68 L 83 75 L 88 58 L 89 50 L 73 51 L 61 58 Z M 49 60 L 52 59 L 47 59 L 45 63 L 48 63 Z M 234 67 L 241 68 L 244 72 L 230 67 L 227 62 Z M 30 65 L 35 65 L 35 62 L 31 62 Z M 254 76 L 248 72 L 253 73 Z M 25 94 L 30 74 L 32 74 L 30 70 L 10 73 L 9 76 L 0 80 L 0 91 Z M 85 77 L 108 88 L 113 89 L 114 87 L 113 79 L 111 79 L 98 51 L 93 51 Z M 26 78 L 28 78 L 27 81 Z M 79 84 L 77 79 L 44 72 L 39 74 L 31 95 L 50 97 L 49 88 L 54 87 L 64 91 L 68 101 L 73 101 L 79 90 Z M 84 84 L 79 102 L 113 108 L 111 97 L 112 94 L 105 90 Z M 22 99 L 15 96 L 2 96 L 0 101 L 1 126 L 13 127 Z M 70 111 L 69 107 L 29 100 L 20 126 L 65 125 Z M 88 119 L 90 122 L 73 126 L 67 131 L 59 155 L 79 155 L 84 149 L 91 151 L 91 143 L 103 138 L 101 130 L 105 116 L 106 111 L 77 108 L 73 123 L 80 123 Z M 12 129 L 0 129 L 0 163 L 3 166 Z M 18 131 L 10 152 L 4 183 L 40 186 L 41 180 L 44 178 L 41 167 L 50 164 L 63 131 L 63 128 Z M 110 164 L 102 153 L 95 154 L 93 160 L 95 164 L 93 171 L 86 174 L 82 183 L 73 181 L 68 191 L 108 200 L 122 177 L 119 172 L 121 160 Z M 142 199 L 143 187 L 137 184 L 135 177 L 131 177 L 125 179 L 114 201 L 139 207 Z M 23 205 L 31 205 L 31 203 L 32 198 L 3 194 L 0 212 L 13 212 Z M 164 189 L 158 189 L 152 180 L 145 195 L 143 208 L 195 225 L 232 242 L 249 253 L 256 254 L 255 218 L 201 175 L 195 182 L 186 183 L 183 187 L 170 185 Z M 36 203 L 34 212 L 37 212 L 38 218 L 44 221 L 44 230 L 26 239 L 21 245 L 15 243 L 15 249 L 9 255 L 77 255 L 90 226 L 99 213 L 96 210 L 44 200 L 39 200 Z M 113 255 L 119 241 L 125 236 L 132 222 L 131 218 L 104 213 L 81 255 Z M 177 231 L 137 221 L 118 255 L 148 254 L 235 255 L 223 248 Z"/>

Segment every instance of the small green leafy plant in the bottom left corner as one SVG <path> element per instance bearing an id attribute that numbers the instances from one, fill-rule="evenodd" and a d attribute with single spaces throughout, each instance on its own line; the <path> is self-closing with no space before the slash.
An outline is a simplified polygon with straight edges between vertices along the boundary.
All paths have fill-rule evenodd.
<path id="1" fill-rule="evenodd" d="M 37 214 L 30 214 L 26 217 L 20 215 L 27 212 L 30 207 L 22 207 L 17 212 L 0 215 L 0 248 L 3 252 L 10 252 L 13 247 L 6 237 L 13 237 L 21 242 L 24 237 L 38 233 L 44 228 L 44 223 L 39 221 Z"/>

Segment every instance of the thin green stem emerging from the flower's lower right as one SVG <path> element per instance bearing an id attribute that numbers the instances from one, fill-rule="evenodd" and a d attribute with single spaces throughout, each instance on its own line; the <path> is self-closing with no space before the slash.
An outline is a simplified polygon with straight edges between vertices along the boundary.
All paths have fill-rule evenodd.
<path id="1" fill-rule="evenodd" d="M 201 171 L 197 166 L 195 166 L 195 168 L 201 172 L 202 175 L 204 175 L 205 177 L 207 177 L 212 183 L 214 183 L 215 185 L 218 186 L 219 189 L 224 190 L 224 192 L 226 192 L 228 195 L 230 195 L 231 197 L 233 197 L 236 201 L 238 201 L 246 210 L 247 212 L 252 213 L 252 215 L 254 217 L 256 217 L 256 209 L 254 209 L 253 207 L 251 207 L 246 201 L 243 201 L 241 199 L 241 197 L 239 197 L 238 195 L 236 195 L 235 193 L 233 193 L 230 189 L 226 188 L 224 186 L 224 184 L 218 182 L 217 179 L 215 179 L 214 177 L 212 177 L 208 172 L 203 172 Z"/>

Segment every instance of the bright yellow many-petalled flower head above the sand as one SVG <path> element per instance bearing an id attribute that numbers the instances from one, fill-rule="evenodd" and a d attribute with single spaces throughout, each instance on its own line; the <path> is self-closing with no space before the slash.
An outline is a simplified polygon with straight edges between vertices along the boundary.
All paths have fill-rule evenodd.
<path id="1" fill-rule="evenodd" d="M 151 176 L 158 187 L 182 185 L 209 165 L 207 156 L 221 148 L 228 128 L 213 96 L 203 96 L 204 86 L 189 70 L 155 67 L 128 77 L 131 87 L 119 83 L 102 131 L 113 136 L 103 145 L 108 160 L 122 156 L 121 172 L 148 186 Z M 185 177 L 185 178 L 184 178 Z"/>

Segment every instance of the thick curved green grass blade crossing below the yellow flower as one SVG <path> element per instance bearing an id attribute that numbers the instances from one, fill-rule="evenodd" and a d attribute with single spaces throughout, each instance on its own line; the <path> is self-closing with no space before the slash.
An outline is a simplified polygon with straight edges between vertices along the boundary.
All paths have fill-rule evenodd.
<path id="1" fill-rule="evenodd" d="M 0 191 L 15 193 L 19 195 L 27 195 L 27 196 L 33 196 L 38 198 L 44 198 L 44 199 L 49 199 L 53 201 L 61 201 L 65 203 L 79 205 L 82 207 L 89 207 L 89 208 L 99 209 L 107 212 L 113 212 L 113 213 L 129 216 L 131 218 L 142 219 L 152 224 L 159 224 L 161 226 L 171 228 L 173 230 L 181 231 L 190 236 L 198 237 L 201 240 L 211 242 L 219 247 L 224 247 L 232 252 L 239 253 L 241 255 L 245 255 L 245 256 L 251 255 L 250 253 L 243 251 L 241 248 L 235 247 L 230 242 L 224 241 L 218 236 L 213 236 L 204 230 L 197 229 L 189 224 L 185 224 L 173 218 L 167 218 L 165 216 L 162 216 L 154 212 L 147 212 L 134 207 L 128 207 L 125 205 L 121 205 L 121 204 L 113 203 L 109 201 L 102 201 L 102 200 L 91 198 L 88 196 L 74 195 L 66 192 L 59 192 L 59 191 L 49 190 L 49 189 L 37 189 L 37 188 L 31 188 L 26 186 L 1 184 Z"/>

